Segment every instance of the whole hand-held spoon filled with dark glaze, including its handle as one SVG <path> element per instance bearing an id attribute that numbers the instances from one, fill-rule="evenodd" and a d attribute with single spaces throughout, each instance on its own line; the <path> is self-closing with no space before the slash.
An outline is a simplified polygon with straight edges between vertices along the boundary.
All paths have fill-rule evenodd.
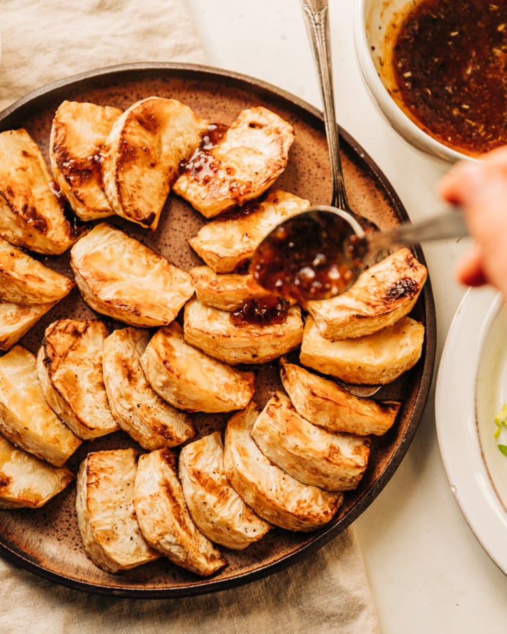
<path id="1" fill-rule="evenodd" d="M 277 225 L 258 245 L 250 271 L 264 289 L 304 306 L 347 291 L 388 249 L 466 235 L 464 217 L 454 209 L 419 223 L 364 232 L 349 212 L 321 205 Z"/>

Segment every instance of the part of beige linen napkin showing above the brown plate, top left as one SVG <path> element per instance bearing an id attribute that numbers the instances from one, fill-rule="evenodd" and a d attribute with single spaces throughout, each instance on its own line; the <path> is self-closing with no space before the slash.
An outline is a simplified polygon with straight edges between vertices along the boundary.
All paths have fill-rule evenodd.
<path id="1" fill-rule="evenodd" d="M 0 32 L 0 110 L 101 66 L 206 62 L 184 0 L 0 0 Z"/>

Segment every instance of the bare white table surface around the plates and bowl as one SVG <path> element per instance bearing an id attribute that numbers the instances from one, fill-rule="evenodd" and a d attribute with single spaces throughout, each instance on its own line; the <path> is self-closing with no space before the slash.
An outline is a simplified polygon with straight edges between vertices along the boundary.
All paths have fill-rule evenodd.
<path id="1" fill-rule="evenodd" d="M 188 4 L 212 66 L 270 82 L 321 108 L 297 0 Z M 371 102 L 356 62 L 354 4 L 330 0 L 338 121 L 384 171 L 411 219 L 432 215 L 438 209 L 436 183 L 447 166 L 409 147 Z M 454 281 L 464 248 L 454 241 L 424 247 L 436 302 L 435 377 L 465 291 Z M 383 634 L 507 631 L 507 578 L 475 540 L 450 490 L 438 450 L 433 389 L 399 469 L 355 526 Z"/>

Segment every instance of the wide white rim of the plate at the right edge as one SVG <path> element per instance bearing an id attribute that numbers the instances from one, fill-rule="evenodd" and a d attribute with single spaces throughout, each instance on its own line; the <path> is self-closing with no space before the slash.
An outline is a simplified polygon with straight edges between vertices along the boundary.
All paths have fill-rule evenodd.
<path id="1" fill-rule="evenodd" d="M 486 331 L 501 306 L 501 295 L 491 286 L 469 288 L 463 295 L 438 366 L 435 422 L 444 470 L 460 512 L 484 552 L 507 575 L 507 550 L 499 539 L 502 534 L 505 538 L 507 514 L 484 464 L 475 410 L 475 382 Z M 453 380 L 456 368 L 460 369 L 459 385 Z M 449 401 L 453 417 L 448 415 Z"/>

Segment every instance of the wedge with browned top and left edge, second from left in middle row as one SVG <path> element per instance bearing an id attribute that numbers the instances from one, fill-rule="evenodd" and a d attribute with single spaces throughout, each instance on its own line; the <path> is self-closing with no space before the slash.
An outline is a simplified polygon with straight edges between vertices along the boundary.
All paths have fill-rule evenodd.
<path id="1" fill-rule="evenodd" d="M 109 334 L 97 319 L 59 319 L 45 330 L 37 371 L 45 398 L 84 440 L 119 430 L 103 382 L 103 342 Z"/>

